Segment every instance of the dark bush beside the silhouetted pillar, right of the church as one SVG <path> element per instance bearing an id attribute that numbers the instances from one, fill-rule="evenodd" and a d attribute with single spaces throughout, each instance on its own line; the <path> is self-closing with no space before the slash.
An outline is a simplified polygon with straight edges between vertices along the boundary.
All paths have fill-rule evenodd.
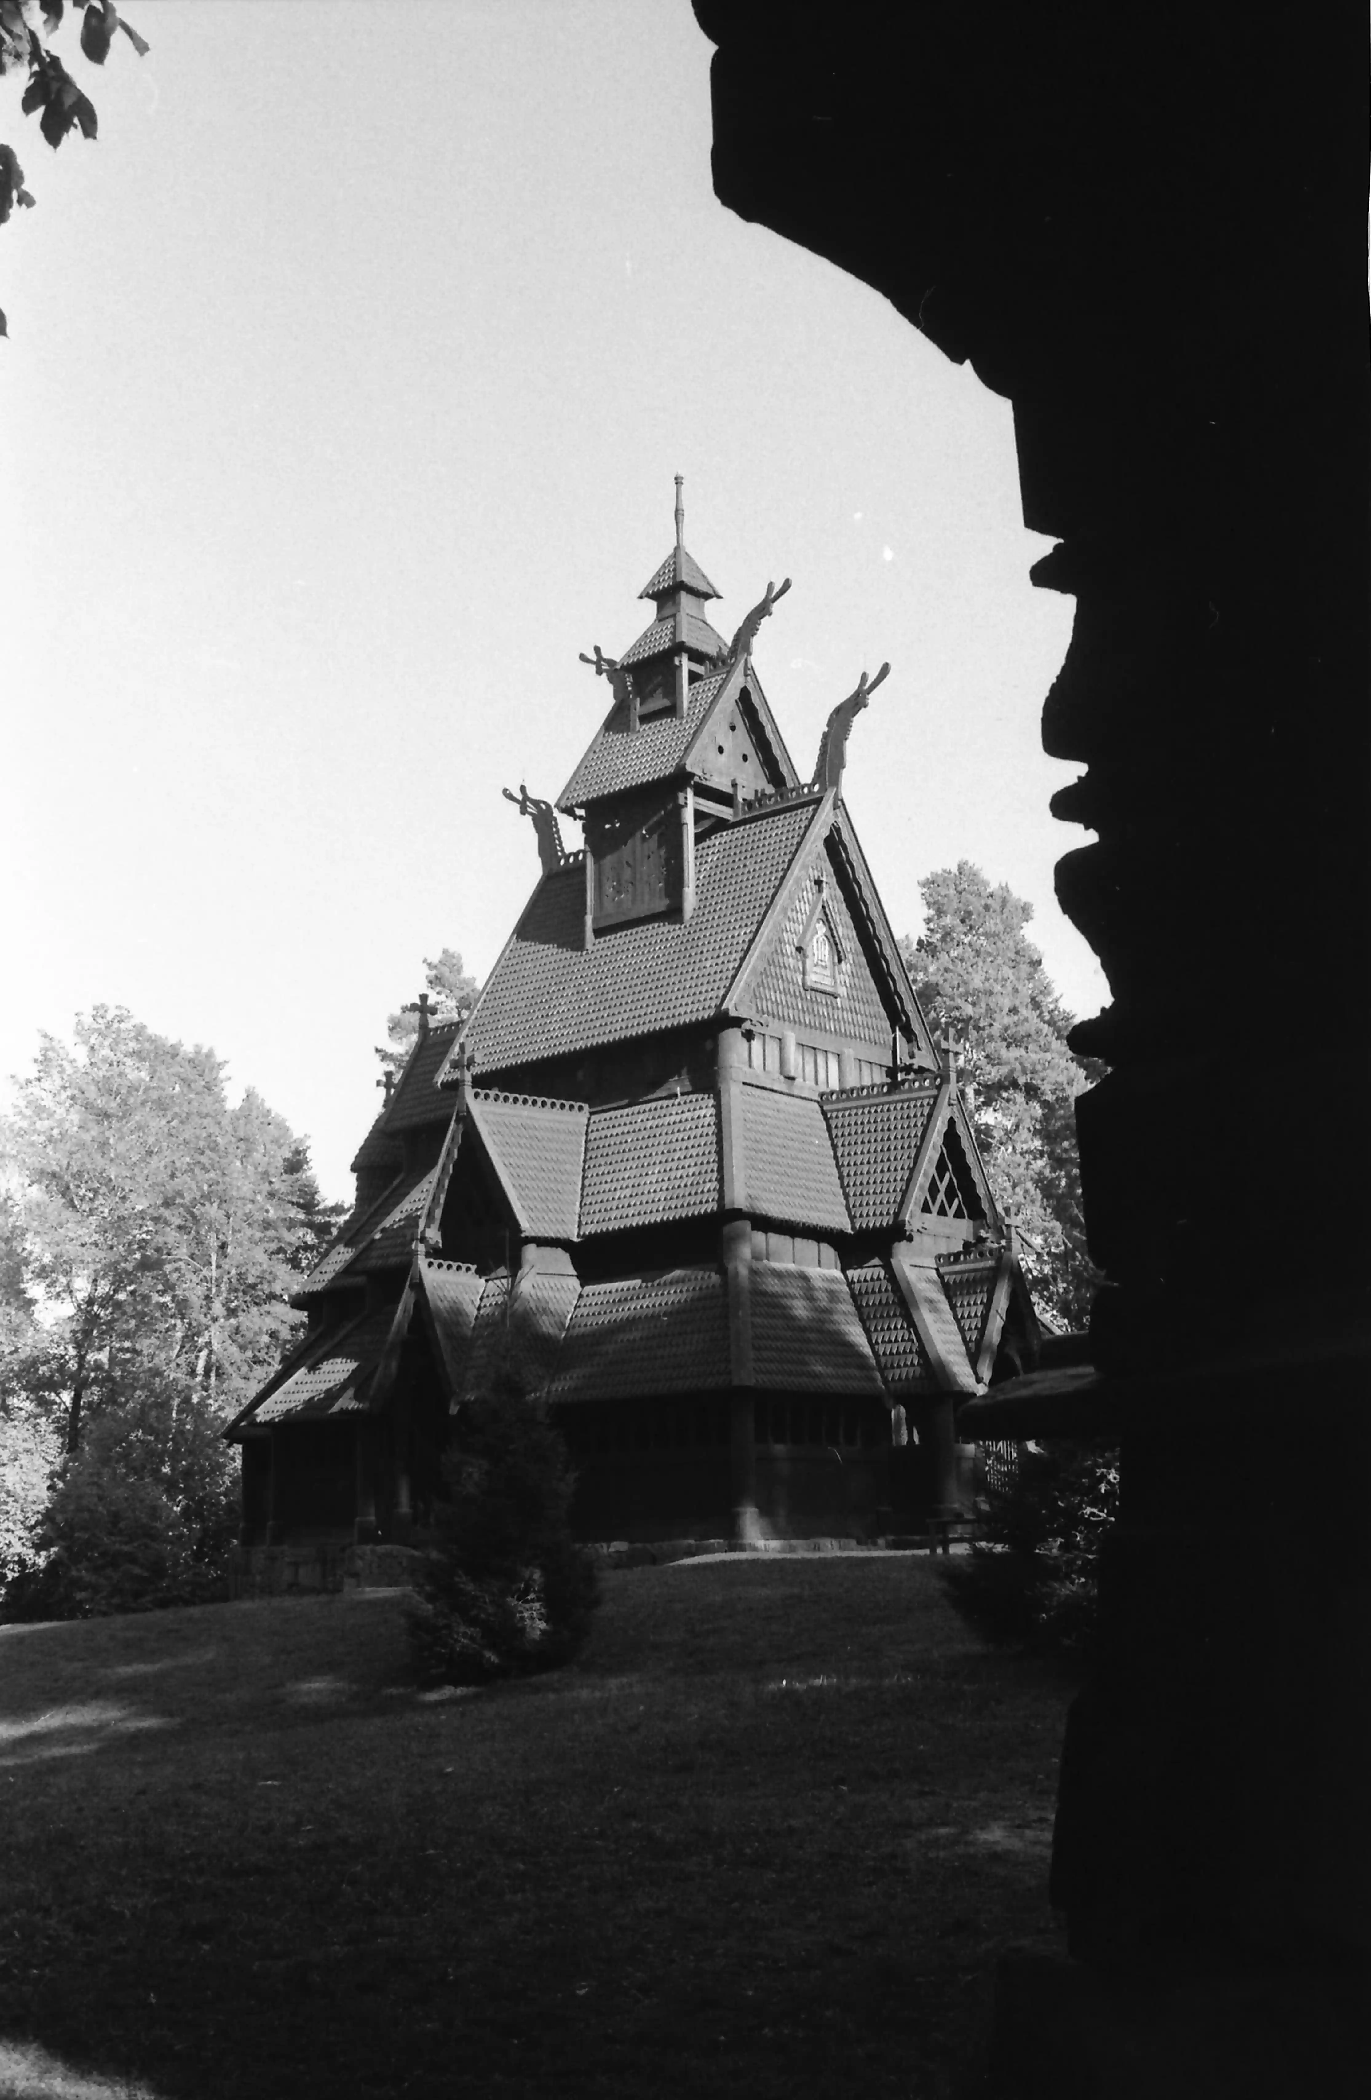
<path id="1" fill-rule="evenodd" d="M 1098 1554 L 1119 1506 L 1119 1453 L 1054 1438 L 1025 1445 L 991 1489 L 980 1539 L 943 1579 L 987 1640 L 1085 1659 L 1098 1623 Z"/>

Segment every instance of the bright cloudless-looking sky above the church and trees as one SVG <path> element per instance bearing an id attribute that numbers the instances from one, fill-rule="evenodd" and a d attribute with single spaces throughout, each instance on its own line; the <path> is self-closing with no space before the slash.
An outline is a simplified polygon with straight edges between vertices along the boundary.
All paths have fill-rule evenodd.
<path id="1" fill-rule="evenodd" d="M 445 945 L 491 968 L 537 874 L 500 790 L 590 741 L 676 472 L 724 634 L 794 578 L 756 659 L 802 771 L 892 664 L 846 800 L 897 930 L 976 861 L 1094 1012 L 1010 407 L 714 200 L 689 0 L 128 15 L 103 76 L 55 42 L 97 145 L 4 84 L 0 1073 L 124 1004 L 351 1193 L 384 1016 Z"/>

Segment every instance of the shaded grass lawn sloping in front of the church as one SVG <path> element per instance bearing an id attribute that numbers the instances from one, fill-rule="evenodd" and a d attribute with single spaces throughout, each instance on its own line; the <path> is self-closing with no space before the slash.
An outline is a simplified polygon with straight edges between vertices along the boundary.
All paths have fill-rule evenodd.
<path id="1" fill-rule="evenodd" d="M 1067 1695 L 913 1556 L 615 1571 L 447 1699 L 393 1592 L 0 1628 L 0 2096 L 976 2092 Z"/>

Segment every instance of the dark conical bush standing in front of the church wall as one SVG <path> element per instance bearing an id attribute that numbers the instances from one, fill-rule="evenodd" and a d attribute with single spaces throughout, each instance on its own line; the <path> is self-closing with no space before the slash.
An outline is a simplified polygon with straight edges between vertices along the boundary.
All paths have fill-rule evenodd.
<path id="1" fill-rule="evenodd" d="M 424 1682 L 483 1684 L 569 1661 L 598 1577 L 571 1537 L 567 1447 L 510 1371 L 464 1403 L 443 1480 L 409 1611 Z"/>

